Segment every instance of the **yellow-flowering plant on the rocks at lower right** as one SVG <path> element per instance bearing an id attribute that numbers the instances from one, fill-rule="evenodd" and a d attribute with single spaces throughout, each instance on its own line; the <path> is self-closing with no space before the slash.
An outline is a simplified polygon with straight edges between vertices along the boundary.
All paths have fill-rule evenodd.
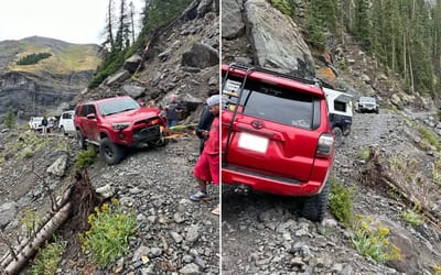
<path id="1" fill-rule="evenodd" d="M 400 249 L 389 242 L 388 234 L 389 229 L 384 228 L 380 222 L 373 224 L 369 217 L 358 216 L 351 242 L 359 254 L 379 263 L 399 260 Z"/>

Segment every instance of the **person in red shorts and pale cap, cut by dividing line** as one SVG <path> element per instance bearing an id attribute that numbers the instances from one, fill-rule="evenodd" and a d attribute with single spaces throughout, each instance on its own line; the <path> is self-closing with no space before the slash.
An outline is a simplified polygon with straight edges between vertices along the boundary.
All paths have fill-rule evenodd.
<path id="1" fill-rule="evenodd" d="M 200 187 L 196 194 L 190 196 L 190 199 L 194 201 L 211 200 L 206 191 L 207 183 L 219 184 L 219 95 L 212 96 L 206 101 L 209 111 L 214 116 L 214 120 L 209 129 L 208 139 L 205 142 L 204 151 L 194 166 L 193 175 L 196 177 Z M 217 205 L 212 212 L 219 215 L 219 206 Z"/>

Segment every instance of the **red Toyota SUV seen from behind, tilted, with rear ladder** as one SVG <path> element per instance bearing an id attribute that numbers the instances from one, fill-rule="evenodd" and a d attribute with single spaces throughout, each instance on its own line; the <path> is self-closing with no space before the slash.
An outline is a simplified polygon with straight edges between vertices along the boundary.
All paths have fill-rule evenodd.
<path id="1" fill-rule="evenodd" d="M 323 220 L 334 138 L 322 88 L 237 64 L 222 74 L 223 183 L 304 197 L 302 216 Z"/>

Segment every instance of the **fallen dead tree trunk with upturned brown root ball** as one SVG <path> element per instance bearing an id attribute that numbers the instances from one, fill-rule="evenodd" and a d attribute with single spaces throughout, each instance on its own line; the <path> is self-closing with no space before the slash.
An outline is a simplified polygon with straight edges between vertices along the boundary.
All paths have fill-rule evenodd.
<path id="1" fill-rule="evenodd" d="M 0 274 L 19 274 L 36 250 L 51 240 L 55 231 L 69 218 L 75 220 L 79 229 L 84 229 L 88 215 L 98 204 L 98 196 L 89 182 L 87 172 L 83 174 L 77 172 L 74 183 L 55 204 L 52 204 L 52 210 L 32 229 L 31 233 L 17 246 L 8 243 L 9 252 L 0 258 Z"/>

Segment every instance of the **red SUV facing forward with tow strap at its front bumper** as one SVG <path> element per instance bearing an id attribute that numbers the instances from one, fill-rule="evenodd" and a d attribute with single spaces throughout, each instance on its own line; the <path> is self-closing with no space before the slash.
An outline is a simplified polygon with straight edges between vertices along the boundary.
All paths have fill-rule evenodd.
<path id="1" fill-rule="evenodd" d="M 82 148 L 86 142 L 99 146 L 108 164 L 119 163 L 127 146 L 148 143 L 163 146 L 166 121 L 160 109 L 141 107 L 131 97 L 100 99 L 75 107 L 74 123 Z"/>

